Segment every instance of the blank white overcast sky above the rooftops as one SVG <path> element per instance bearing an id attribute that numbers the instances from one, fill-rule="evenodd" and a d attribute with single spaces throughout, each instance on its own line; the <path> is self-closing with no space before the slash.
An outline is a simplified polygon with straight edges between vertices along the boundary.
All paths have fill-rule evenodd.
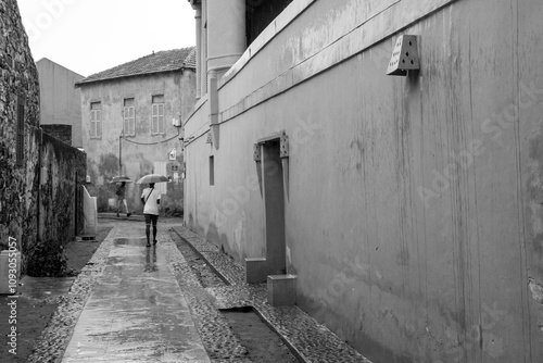
<path id="1" fill-rule="evenodd" d="M 152 51 L 195 46 L 187 0 L 17 0 L 34 61 L 85 77 Z"/>

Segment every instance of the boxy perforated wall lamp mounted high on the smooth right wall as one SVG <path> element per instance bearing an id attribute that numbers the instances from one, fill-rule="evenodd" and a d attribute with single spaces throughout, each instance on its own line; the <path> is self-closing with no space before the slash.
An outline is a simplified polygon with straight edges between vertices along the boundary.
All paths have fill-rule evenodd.
<path id="1" fill-rule="evenodd" d="M 389 76 L 405 76 L 407 71 L 420 70 L 418 60 L 417 36 L 402 35 L 397 37 L 392 58 L 387 68 Z"/>

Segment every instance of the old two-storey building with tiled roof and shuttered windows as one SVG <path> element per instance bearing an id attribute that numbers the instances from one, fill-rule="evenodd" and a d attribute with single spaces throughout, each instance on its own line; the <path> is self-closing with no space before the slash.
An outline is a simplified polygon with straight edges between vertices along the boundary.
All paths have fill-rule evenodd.
<path id="1" fill-rule="evenodd" d="M 115 203 L 109 183 L 119 174 L 136 182 L 150 173 L 167 175 L 157 184 L 163 212 L 182 208 L 180 118 L 194 104 L 193 48 L 153 52 L 76 83 L 81 90 L 83 147 L 98 210 Z M 174 124 L 178 125 L 175 126 Z M 142 211 L 139 186 L 129 184 L 130 210 Z"/>

